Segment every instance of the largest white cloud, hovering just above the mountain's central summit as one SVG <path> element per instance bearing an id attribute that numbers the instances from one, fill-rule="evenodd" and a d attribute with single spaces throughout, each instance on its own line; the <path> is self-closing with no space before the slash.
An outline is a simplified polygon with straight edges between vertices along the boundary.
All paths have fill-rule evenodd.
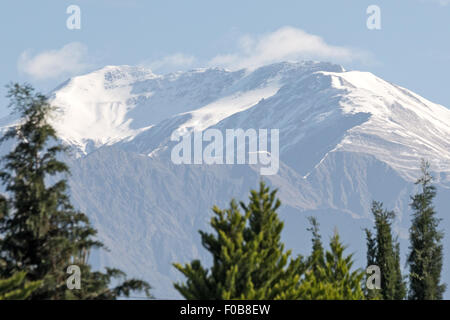
<path id="1" fill-rule="evenodd" d="M 254 69 L 274 62 L 290 60 L 326 60 L 346 63 L 366 59 L 370 59 L 366 53 L 329 45 L 319 36 L 301 29 L 283 27 L 261 36 L 241 37 L 237 52 L 218 55 L 209 61 L 209 65 L 230 69 Z"/>

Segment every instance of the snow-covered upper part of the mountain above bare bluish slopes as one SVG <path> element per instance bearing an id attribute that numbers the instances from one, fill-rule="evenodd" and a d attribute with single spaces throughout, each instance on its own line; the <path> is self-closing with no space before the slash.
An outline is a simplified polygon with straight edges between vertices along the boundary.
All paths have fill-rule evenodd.
<path id="1" fill-rule="evenodd" d="M 105 66 L 65 82 L 53 92 L 52 103 L 60 110 L 53 120 L 59 136 L 85 154 L 144 131 L 152 135 L 153 127 L 160 128 L 159 135 L 164 132 L 163 140 L 177 130 L 219 125 L 280 128 L 288 150 L 341 126 L 330 131 L 329 140 L 320 138 L 327 144 L 324 150 L 369 152 L 403 168 L 419 155 L 440 154 L 442 167 L 450 168 L 448 109 L 370 72 L 345 71 L 327 62 L 167 75 L 143 67 Z M 317 153 L 311 165 L 324 154 Z"/>

